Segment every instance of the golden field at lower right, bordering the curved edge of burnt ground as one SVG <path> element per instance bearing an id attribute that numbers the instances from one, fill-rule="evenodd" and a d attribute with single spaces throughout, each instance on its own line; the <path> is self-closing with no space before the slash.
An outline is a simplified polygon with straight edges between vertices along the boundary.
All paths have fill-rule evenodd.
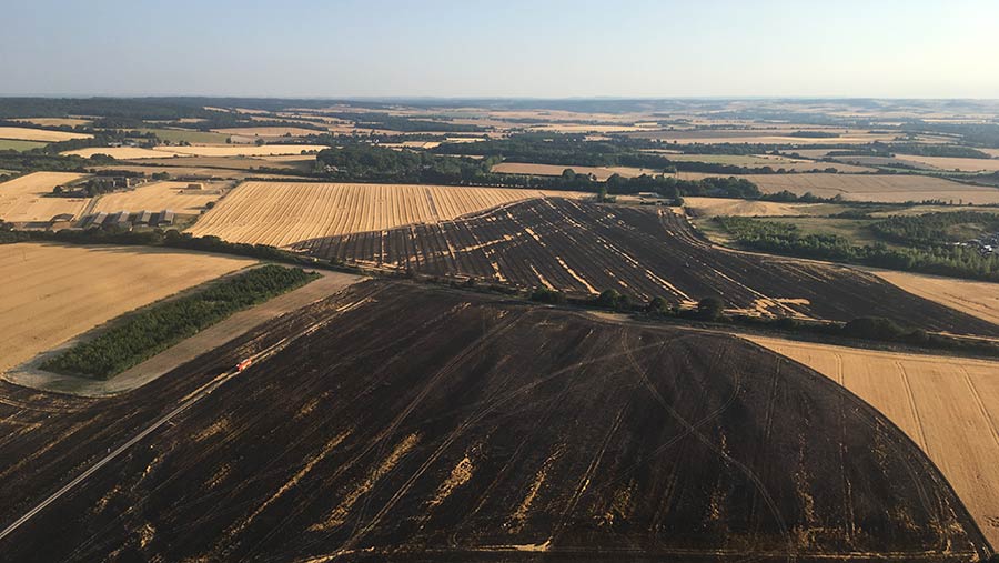
<path id="1" fill-rule="evenodd" d="M 745 338 L 881 411 L 937 464 L 989 541 L 999 542 L 999 362 Z"/>

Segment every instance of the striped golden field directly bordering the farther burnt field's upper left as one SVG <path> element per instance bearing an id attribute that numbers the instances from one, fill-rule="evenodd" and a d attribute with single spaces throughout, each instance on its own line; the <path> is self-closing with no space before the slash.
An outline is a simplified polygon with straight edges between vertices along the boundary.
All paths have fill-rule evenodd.
<path id="1" fill-rule="evenodd" d="M 412 223 L 445 221 L 531 198 L 581 192 L 443 185 L 245 182 L 189 232 L 231 242 L 295 242 Z"/>

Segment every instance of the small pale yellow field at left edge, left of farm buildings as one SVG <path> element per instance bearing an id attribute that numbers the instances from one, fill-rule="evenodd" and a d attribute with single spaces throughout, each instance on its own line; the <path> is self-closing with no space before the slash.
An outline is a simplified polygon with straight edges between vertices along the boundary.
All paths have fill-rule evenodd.
<path id="1" fill-rule="evenodd" d="M 62 213 L 72 213 L 79 218 L 90 200 L 44 195 L 52 193 L 52 188 L 83 175 L 73 172 L 34 172 L 0 183 L 0 219 L 10 222 L 49 221 Z"/>

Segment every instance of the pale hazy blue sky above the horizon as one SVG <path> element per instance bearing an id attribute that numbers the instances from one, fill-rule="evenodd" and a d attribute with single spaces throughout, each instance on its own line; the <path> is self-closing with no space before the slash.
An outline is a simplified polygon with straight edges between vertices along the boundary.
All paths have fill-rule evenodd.
<path id="1" fill-rule="evenodd" d="M 0 0 L 0 94 L 999 98 L 999 0 Z"/>

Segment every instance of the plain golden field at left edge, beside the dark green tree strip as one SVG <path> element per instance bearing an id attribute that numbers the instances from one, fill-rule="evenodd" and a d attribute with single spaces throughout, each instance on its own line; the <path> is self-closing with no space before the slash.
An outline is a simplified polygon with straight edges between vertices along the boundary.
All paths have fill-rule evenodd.
<path id="1" fill-rule="evenodd" d="M 253 263 L 138 247 L 0 245 L 0 372 L 122 313 Z"/>

